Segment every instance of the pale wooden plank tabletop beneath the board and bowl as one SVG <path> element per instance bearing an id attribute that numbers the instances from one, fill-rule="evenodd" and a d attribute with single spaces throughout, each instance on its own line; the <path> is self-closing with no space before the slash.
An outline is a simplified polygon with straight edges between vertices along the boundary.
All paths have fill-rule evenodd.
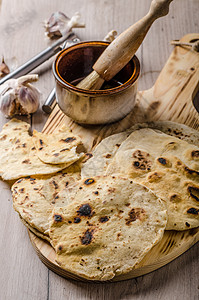
<path id="1" fill-rule="evenodd" d="M 81 40 L 101 40 L 112 29 L 122 32 L 145 15 L 151 0 L 0 0 L 0 56 L 21 65 L 49 45 L 44 20 L 52 12 L 71 17 L 81 13 L 85 29 L 76 29 Z M 139 90 L 150 88 L 167 61 L 170 40 L 198 32 L 199 0 L 174 0 L 168 16 L 157 20 L 137 52 L 141 63 Z M 52 59 L 35 73 L 43 94 L 41 105 L 54 86 Z M 40 108 L 31 119 L 42 130 L 48 115 Z M 25 118 L 24 118 L 25 119 Z M 26 120 L 26 119 L 25 119 Z M 0 129 L 8 120 L 0 114 Z M 198 299 L 199 247 L 148 275 L 118 283 L 91 284 L 66 280 L 39 260 L 28 233 L 12 208 L 8 185 L 0 182 L 0 299 Z"/>

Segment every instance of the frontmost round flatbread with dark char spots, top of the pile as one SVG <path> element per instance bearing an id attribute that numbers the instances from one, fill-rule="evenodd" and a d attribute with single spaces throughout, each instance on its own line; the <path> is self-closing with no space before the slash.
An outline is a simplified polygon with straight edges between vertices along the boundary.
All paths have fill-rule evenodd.
<path id="1" fill-rule="evenodd" d="M 131 271 L 161 240 L 166 207 L 130 179 L 97 176 L 82 180 L 74 200 L 56 207 L 50 226 L 56 261 L 90 280 Z"/>

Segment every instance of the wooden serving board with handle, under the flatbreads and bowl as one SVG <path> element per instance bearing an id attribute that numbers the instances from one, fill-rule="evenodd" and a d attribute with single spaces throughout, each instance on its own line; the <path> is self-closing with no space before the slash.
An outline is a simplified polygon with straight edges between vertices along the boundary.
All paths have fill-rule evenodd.
<path id="1" fill-rule="evenodd" d="M 199 34 L 188 34 L 182 42 L 193 42 Z M 62 124 L 69 125 L 91 151 L 103 138 L 121 132 L 138 122 L 171 120 L 184 123 L 199 130 L 199 113 L 193 99 L 199 90 L 199 53 L 188 47 L 175 47 L 154 86 L 138 92 L 133 111 L 123 120 L 104 126 L 80 126 L 65 116 L 56 106 L 45 127 L 46 133 L 53 132 Z M 198 100 L 194 102 L 197 106 Z M 49 243 L 29 231 L 30 240 L 41 261 L 57 274 L 76 280 L 80 278 L 68 273 L 55 262 L 55 251 Z M 139 265 L 126 275 L 112 281 L 126 280 L 154 271 L 184 253 L 199 240 L 199 228 L 182 232 L 165 231 L 163 239 L 155 245 Z"/>

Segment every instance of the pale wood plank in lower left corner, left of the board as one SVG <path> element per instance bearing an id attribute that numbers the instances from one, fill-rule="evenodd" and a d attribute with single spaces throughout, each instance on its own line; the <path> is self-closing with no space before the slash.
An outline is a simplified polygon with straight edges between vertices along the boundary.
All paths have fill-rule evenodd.
<path id="1" fill-rule="evenodd" d="M 0 299 L 46 299 L 48 270 L 34 252 L 12 207 L 7 184 L 0 182 Z"/>

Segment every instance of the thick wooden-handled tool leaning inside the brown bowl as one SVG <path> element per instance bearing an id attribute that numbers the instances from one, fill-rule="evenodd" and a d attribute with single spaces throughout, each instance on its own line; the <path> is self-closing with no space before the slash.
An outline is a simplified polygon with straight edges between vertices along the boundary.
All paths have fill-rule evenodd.
<path id="1" fill-rule="evenodd" d="M 149 12 L 141 20 L 121 33 L 100 55 L 93 72 L 84 78 L 78 88 L 100 89 L 104 81 L 113 78 L 134 56 L 153 22 L 169 12 L 173 0 L 152 0 Z"/>

